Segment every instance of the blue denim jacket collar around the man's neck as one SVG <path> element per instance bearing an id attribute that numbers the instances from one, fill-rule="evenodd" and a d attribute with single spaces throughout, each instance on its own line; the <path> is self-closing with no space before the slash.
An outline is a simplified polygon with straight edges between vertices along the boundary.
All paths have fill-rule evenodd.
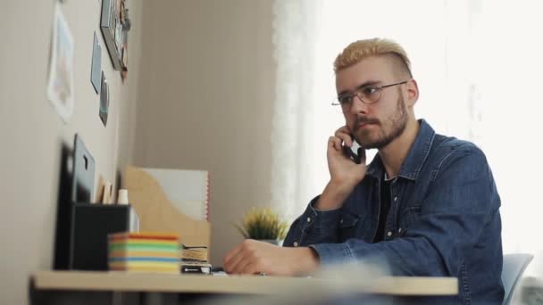
<path id="1" fill-rule="evenodd" d="M 420 126 L 419 132 L 414 138 L 414 143 L 407 153 L 407 157 L 405 157 L 405 161 L 402 164 L 397 177 L 416 180 L 421 172 L 424 161 L 426 161 L 430 153 L 431 144 L 434 141 L 436 132 L 430 127 L 430 124 L 428 124 L 426 120 L 422 119 L 418 121 Z M 380 178 L 383 177 L 384 171 L 385 168 L 380 160 L 380 155 L 377 153 L 375 158 L 373 158 L 373 161 L 368 165 L 367 174 L 380 180 Z"/>

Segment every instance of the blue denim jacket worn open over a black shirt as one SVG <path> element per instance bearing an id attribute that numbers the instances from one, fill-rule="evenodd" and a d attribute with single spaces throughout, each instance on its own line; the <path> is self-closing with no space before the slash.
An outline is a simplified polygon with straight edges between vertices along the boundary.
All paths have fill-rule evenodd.
<path id="1" fill-rule="evenodd" d="M 425 120 L 390 186 L 383 241 L 372 243 L 380 210 L 379 154 L 337 210 L 309 203 L 284 246 L 309 246 L 321 264 L 384 259 L 394 276 L 455 276 L 458 294 L 422 302 L 501 304 L 500 198 L 483 152 L 435 133 Z"/>

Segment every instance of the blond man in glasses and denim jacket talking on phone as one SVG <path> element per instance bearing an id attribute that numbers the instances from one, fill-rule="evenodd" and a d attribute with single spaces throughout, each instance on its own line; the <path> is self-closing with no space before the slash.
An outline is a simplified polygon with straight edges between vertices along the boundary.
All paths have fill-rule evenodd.
<path id="1" fill-rule="evenodd" d="M 328 141 L 330 182 L 292 224 L 285 248 L 246 240 L 234 274 L 303 275 L 321 265 L 384 259 L 396 276 L 455 276 L 447 301 L 501 303 L 500 199 L 483 152 L 415 120 L 419 97 L 404 49 L 356 41 L 334 63 L 346 126 Z M 377 148 L 366 166 L 343 145 Z"/>

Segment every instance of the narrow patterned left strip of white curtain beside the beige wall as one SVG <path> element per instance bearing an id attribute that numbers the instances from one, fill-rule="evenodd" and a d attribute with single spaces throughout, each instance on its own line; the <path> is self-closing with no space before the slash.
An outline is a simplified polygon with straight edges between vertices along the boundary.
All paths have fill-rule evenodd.
<path id="1" fill-rule="evenodd" d="M 311 127 L 317 106 L 314 30 L 318 6 L 313 0 L 276 1 L 273 9 L 277 86 L 272 118 L 272 205 L 291 220 L 314 193 Z"/>

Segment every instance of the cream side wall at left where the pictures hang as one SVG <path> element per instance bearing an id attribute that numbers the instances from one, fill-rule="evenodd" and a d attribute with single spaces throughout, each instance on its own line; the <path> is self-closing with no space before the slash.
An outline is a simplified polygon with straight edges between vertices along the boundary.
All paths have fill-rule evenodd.
<path id="1" fill-rule="evenodd" d="M 129 0 L 129 78 L 122 84 L 99 31 L 100 1 L 65 1 L 75 44 L 74 112 L 68 124 L 46 99 L 55 1 L 3 1 L 0 10 L 0 303 L 28 302 L 29 275 L 53 265 L 61 148 L 83 136 L 96 159 L 96 177 L 115 182 L 130 162 L 136 108 L 142 2 Z M 102 42 L 102 69 L 110 85 L 107 128 L 90 84 L 93 32 Z M 132 115 L 133 116 L 133 115 Z"/>

